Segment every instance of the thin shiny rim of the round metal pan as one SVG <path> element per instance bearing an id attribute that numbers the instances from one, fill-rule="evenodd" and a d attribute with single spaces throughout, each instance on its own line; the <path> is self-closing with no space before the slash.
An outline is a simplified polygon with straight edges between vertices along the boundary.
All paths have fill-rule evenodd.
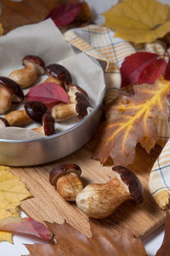
<path id="1" fill-rule="evenodd" d="M 102 69 L 102 68 L 101 68 Z M 105 72 L 104 70 L 102 70 L 103 74 L 104 74 L 104 83 L 105 83 Z M 93 108 L 92 112 L 88 114 L 88 116 L 85 119 L 82 119 L 81 121 L 79 121 L 77 123 L 77 125 L 73 125 L 71 128 L 65 130 L 65 131 L 59 131 L 58 133 L 55 133 L 54 135 L 50 135 L 50 136 L 44 136 L 44 137 L 39 137 L 39 138 L 35 138 L 35 139 L 31 139 L 31 140 L 8 140 L 8 139 L 0 139 L 0 143 L 36 143 L 36 142 L 44 142 L 44 141 L 49 141 L 55 137 L 61 137 L 64 136 L 65 133 L 69 133 L 73 130 L 76 130 L 79 126 L 81 126 L 83 123 L 85 123 L 86 121 L 88 121 L 88 119 L 90 119 L 94 113 L 99 109 L 100 105 L 102 104 L 104 97 L 105 97 L 105 90 L 106 90 L 106 84 L 104 89 L 102 90 L 102 93 L 100 95 L 100 100 L 98 102 L 98 104 Z"/>

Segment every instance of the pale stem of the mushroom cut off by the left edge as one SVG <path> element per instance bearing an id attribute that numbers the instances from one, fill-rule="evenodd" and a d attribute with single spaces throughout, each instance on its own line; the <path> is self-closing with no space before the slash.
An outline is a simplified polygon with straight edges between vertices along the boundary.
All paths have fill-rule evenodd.
<path id="1" fill-rule="evenodd" d="M 5 113 L 11 107 L 12 94 L 5 87 L 0 88 L 0 113 Z"/>

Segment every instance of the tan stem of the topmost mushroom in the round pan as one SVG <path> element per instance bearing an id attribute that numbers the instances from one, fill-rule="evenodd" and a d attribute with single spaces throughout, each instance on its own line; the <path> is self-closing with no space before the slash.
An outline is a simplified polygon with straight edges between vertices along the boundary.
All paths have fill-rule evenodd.
<path id="1" fill-rule="evenodd" d="M 26 88 L 35 83 L 37 79 L 37 67 L 33 63 L 28 62 L 25 67 L 11 72 L 8 78 L 20 84 L 21 88 Z"/>

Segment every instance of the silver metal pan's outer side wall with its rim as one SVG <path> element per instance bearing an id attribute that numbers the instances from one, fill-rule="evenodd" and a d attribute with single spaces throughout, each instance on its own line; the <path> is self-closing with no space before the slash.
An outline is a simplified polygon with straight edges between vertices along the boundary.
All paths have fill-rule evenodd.
<path id="1" fill-rule="evenodd" d="M 101 117 L 103 90 L 99 103 L 85 119 L 66 131 L 34 140 L 0 139 L 0 164 L 35 166 L 58 160 L 81 148 L 93 136 Z"/>

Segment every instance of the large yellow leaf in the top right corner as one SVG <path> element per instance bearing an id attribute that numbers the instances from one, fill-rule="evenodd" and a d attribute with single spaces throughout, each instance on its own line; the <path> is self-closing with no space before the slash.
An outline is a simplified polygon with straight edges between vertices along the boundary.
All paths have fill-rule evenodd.
<path id="1" fill-rule="evenodd" d="M 115 37 L 133 43 L 149 43 L 170 31 L 170 8 L 155 0 L 125 0 L 105 14 L 105 26 Z"/>

